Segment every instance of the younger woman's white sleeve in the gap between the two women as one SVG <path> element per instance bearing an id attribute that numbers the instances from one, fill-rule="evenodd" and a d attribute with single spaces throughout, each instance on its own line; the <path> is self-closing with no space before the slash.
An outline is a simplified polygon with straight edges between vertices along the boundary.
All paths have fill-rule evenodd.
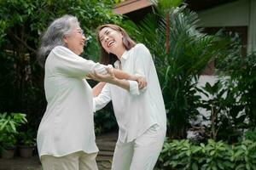
<path id="1" fill-rule="evenodd" d="M 109 102 L 111 101 L 111 91 L 110 86 L 107 83 L 104 88 L 102 88 L 101 94 L 99 94 L 97 97 L 93 98 L 94 102 L 94 110 L 99 111 L 103 107 L 105 107 Z"/>

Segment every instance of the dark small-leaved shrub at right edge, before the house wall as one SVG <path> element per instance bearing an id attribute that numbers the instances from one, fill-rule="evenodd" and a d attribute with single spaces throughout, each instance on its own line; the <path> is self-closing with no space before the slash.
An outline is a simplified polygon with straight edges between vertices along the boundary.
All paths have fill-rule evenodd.
<path id="1" fill-rule="evenodd" d="M 247 118 L 247 127 L 256 127 L 256 53 L 241 56 L 239 45 L 235 44 L 230 55 L 218 59 L 218 67 L 223 75 L 229 76 L 226 82 L 230 93 L 236 97 Z M 235 52 L 234 52 L 235 51 Z"/>

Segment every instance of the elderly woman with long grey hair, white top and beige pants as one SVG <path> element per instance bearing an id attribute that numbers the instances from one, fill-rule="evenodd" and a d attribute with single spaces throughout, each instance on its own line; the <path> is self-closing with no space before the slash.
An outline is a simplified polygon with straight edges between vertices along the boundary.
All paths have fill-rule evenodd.
<path id="1" fill-rule="evenodd" d="M 84 77 L 94 72 L 113 73 L 106 71 L 106 65 L 79 56 L 83 53 L 84 42 L 79 21 L 71 15 L 54 20 L 41 40 L 38 55 L 44 60 L 48 105 L 38 128 L 37 142 L 44 170 L 97 169 L 93 97 Z M 120 78 L 138 80 L 123 72 L 113 72 Z M 128 91 L 133 82 L 117 78 L 102 81 Z"/>

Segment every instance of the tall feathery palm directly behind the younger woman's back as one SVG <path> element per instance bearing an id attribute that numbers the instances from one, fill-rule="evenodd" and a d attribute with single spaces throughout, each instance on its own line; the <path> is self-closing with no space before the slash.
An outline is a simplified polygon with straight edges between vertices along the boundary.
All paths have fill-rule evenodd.
<path id="1" fill-rule="evenodd" d="M 172 139 L 185 138 L 189 121 L 199 114 L 201 97 L 195 89 L 198 78 L 222 49 L 217 37 L 196 29 L 195 12 L 185 5 L 177 7 L 180 4 L 177 0 L 161 0 L 154 14 L 148 14 L 137 26 L 130 22 L 125 27 L 153 54 Z"/>

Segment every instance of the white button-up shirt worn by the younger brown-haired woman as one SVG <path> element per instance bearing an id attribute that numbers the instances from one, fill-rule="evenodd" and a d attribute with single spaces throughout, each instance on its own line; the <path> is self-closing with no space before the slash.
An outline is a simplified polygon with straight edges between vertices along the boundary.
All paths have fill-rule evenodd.
<path id="1" fill-rule="evenodd" d="M 166 109 L 160 90 L 160 83 L 151 54 L 143 44 L 138 43 L 122 55 L 122 71 L 139 74 L 146 78 L 148 86 L 139 90 L 137 82 L 130 82 L 130 92 L 107 83 L 101 94 L 94 98 L 96 111 L 110 100 L 119 125 L 119 139 L 130 142 L 143 134 L 149 127 L 159 124 L 166 132 Z M 117 61 L 119 62 L 119 61 Z M 118 63 L 115 63 L 115 67 Z"/>

